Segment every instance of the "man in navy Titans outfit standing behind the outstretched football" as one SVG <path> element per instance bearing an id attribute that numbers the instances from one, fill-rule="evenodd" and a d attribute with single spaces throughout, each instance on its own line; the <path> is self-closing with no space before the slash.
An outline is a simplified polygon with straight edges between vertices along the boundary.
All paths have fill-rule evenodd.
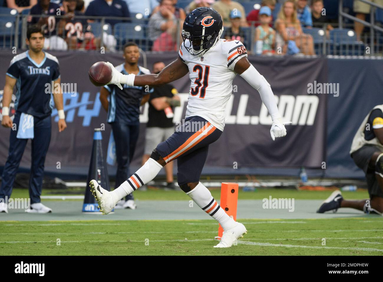
<path id="1" fill-rule="evenodd" d="M 118 71 L 123 74 L 150 74 L 146 68 L 138 65 L 140 53 L 135 43 L 124 45 L 125 63 L 116 66 Z M 149 100 L 149 93 L 152 89 L 143 86 L 123 85 L 123 89 L 111 84 L 101 88 L 100 100 L 105 110 L 108 111 L 108 122 L 113 130 L 113 137 L 116 144 L 117 188 L 128 178 L 129 163 L 131 162 L 139 133 L 140 106 Z M 108 96 L 110 95 L 110 102 Z M 135 209 L 133 194 L 126 196 L 125 202 L 120 202 L 117 208 Z"/>

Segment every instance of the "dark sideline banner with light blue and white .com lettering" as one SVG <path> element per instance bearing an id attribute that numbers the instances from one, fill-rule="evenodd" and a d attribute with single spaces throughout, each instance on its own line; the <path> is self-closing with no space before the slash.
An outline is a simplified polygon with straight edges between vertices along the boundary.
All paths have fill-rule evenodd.
<path id="1" fill-rule="evenodd" d="M 84 56 L 79 52 L 55 52 L 60 64 L 61 82 L 64 88 L 64 109 L 68 128 L 60 134 L 52 126 L 52 139 L 46 158 L 46 170 L 58 173 L 86 174 L 94 128 L 105 130 L 103 148 L 108 148 L 110 125 L 106 123 L 106 112 L 99 100 L 100 89 L 88 79 L 89 67 L 97 61 L 110 61 L 114 65 L 123 63 L 122 54 L 92 53 Z M 0 84 L 4 85 L 5 72 L 14 54 L 0 54 Z M 159 60 L 165 64 L 173 61 L 176 53 L 146 54 L 147 68 Z M 285 121 L 288 135 L 272 141 L 271 118 L 259 94 L 241 76 L 233 81 L 233 93 L 227 106 L 226 126 L 220 139 L 210 146 L 206 167 L 308 167 L 321 168 L 326 162 L 326 114 L 327 99 L 336 99 L 336 83 L 329 85 L 328 59 L 294 57 L 254 57 L 250 62 L 271 84 L 278 107 Z M 363 61 L 363 60 L 356 60 Z M 140 59 L 142 65 L 142 58 Z M 342 81 L 352 83 L 351 81 Z M 180 92 L 181 106 L 174 112 L 175 123 L 185 117 L 187 93 L 190 87 L 188 75 L 172 83 Z M 331 87 L 330 87 L 331 86 Z M 2 93 L 0 93 L 2 96 Z M 344 101 L 343 101 L 344 102 Z M 1 105 L 0 105 L 1 106 Z M 343 105 L 351 107 L 352 105 Z M 141 134 L 137 143 L 132 165 L 139 165 L 143 153 L 144 129 L 147 122 L 148 104 L 142 107 Z M 57 110 L 52 112 L 57 122 Z M 355 128 L 357 125 L 355 125 Z M 0 157 L 3 166 L 8 155 L 9 129 L 2 128 Z M 351 134 L 345 136 L 352 140 Z M 327 142 L 327 144 L 329 144 Z M 30 167 L 31 147 L 27 145 L 20 167 Z M 83 173 L 85 172 L 85 173 Z M 232 171 L 236 174 L 236 170 Z"/>

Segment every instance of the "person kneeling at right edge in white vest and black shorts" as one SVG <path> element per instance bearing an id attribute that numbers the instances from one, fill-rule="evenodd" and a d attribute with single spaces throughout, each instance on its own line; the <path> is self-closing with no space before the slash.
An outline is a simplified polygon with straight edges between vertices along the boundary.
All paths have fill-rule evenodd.
<path id="1" fill-rule="evenodd" d="M 354 139 L 350 155 L 367 180 L 370 199 L 344 200 L 339 190 L 334 191 L 318 209 L 318 213 L 354 208 L 365 213 L 383 213 L 383 105 L 375 106 L 363 120 Z"/>

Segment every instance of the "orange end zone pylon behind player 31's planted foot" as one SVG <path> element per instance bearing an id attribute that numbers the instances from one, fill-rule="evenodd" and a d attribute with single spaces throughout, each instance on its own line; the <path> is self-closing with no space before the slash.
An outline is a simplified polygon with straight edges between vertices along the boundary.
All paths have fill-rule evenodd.
<path id="1" fill-rule="evenodd" d="M 221 202 L 220 206 L 233 219 L 237 220 L 237 203 L 238 203 L 238 183 L 226 183 L 221 185 Z M 215 239 L 221 240 L 223 228 L 219 224 L 218 237 Z"/>

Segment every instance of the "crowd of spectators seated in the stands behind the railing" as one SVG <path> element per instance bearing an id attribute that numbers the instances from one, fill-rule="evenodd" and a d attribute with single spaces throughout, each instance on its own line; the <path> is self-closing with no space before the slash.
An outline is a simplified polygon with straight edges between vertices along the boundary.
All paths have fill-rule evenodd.
<path id="1" fill-rule="evenodd" d="M 145 50 L 172 51 L 182 42 L 182 23 L 187 13 L 197 7 L 212 7 L 223 19 L 222 38 L 241 40 L 254 54 L 315 54 L 312 28 L 333 30 L 326 16 L 323 0 L 262 0 L 245 10 L 241 2 L 233 0 L 190 0 L 178 5 L 177 0 L 4 0 L 5 5 L 18 13 L 29 11 L 28 23 L 38 24 L 46 34 L 49 49 L 97 49 L 101 42 L 109 49 L 123 45 L 113 36 L 120 23 L 134 23 L 129 28 L 142 32 L 140 39 Z M 185 0 L 182 0 L 185 4 Z M 375 0 L 383 2 L 383 0 Z M 244 4 L 244 3 L 243 3 Z M 366 6 L 367 5 L 367 6 Z M 365 20 L 369 5 L 354 1 L 356 16 Z M 276 10 L 278 9 L 278 10 Z M 60 14 L 58 14 L 60 11 Z M 325 11 L 325 12 L 324 12 Z M 33 16 L 41 15 L 41 16 Z M 83 16 L 83 18 L 81 18 Z M 88 17 L 88 18 L 85 18 Z M 93 17 L 93 18 L 92 18 Z M 106 17 L 108 30 L 96 31 L 92 23 Z M 361 39 L 363 25 L 355 22 L 356 39 Z M 93 28 L 93 29 L 92 29 Z M 128 32 L 127 32 L 128 33 Z"/>

